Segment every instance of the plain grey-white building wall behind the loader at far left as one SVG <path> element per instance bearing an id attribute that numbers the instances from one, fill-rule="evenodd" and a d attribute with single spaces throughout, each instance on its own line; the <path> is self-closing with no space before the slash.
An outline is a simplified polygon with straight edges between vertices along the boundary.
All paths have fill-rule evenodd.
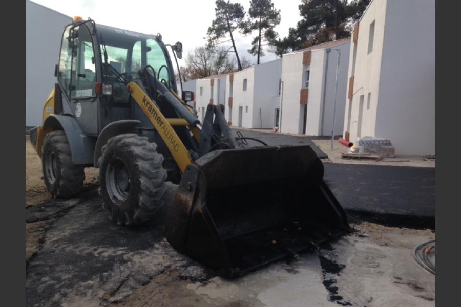
<path id="1" fill-rule="evenodd" d="M 72 18 L 26 0 L 26 127 L 41 124 L 43 105 L 57 82 L 64 27 Z"/>

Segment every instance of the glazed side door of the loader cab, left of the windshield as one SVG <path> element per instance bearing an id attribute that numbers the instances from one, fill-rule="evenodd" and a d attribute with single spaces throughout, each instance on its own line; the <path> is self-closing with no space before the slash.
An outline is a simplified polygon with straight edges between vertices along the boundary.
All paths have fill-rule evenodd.
<path id="1" fill-rule="evenodd" d="M 98 103 L 94 63 L 92 35 L 87 25 L 68 26 L 61 42 L 58 82 L 83 132 L 96 135 Z"/>

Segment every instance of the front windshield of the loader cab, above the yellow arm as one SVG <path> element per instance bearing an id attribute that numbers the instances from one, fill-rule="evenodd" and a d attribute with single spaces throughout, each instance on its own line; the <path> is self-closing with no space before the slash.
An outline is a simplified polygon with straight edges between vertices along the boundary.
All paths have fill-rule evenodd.
<path id="1" fill-rule="evenodd" d="M 159 80 L 174 86 L 169 60 L 154 37 L 101 25 L 97 26 L 97 34 L 103 65 L 110 66 L 107 70 L 103 69 L 104 82 L 120 81 L 120 77 L 114 76 L 114 69 L 126 80 L 131 81 L 139 78 L 138 71 L 141 68 L 150 65 Z M 104 49 L 107 53 L 107 62 Z"/>

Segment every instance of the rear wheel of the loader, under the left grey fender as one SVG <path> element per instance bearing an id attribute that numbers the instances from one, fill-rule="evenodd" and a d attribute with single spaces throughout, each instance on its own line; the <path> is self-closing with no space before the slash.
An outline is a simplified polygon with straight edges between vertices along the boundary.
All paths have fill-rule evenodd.
<path id="1" fill-rule="evenodd" d="M 72 163 L 72 154 L 66 133 L 51 131 L 41 147 L 43 179 L 54 198 L 69 198 L 83 189 L 85 166 Z"/>

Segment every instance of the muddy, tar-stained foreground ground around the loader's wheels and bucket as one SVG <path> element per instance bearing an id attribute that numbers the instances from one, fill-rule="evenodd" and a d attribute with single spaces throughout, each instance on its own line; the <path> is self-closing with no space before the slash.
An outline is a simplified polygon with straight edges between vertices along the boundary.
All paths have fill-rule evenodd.
<path id="1" fill-rule="evenodd" d="M 155 225 L 125 228 L 88 191 L 53 200 L 26 140 L 26 296 L 29 306 L 435 306 L 435 276 L 413 248 L 431 230 L 357 222 L 355 232 L 237 279 L 175 251 Z"/>

